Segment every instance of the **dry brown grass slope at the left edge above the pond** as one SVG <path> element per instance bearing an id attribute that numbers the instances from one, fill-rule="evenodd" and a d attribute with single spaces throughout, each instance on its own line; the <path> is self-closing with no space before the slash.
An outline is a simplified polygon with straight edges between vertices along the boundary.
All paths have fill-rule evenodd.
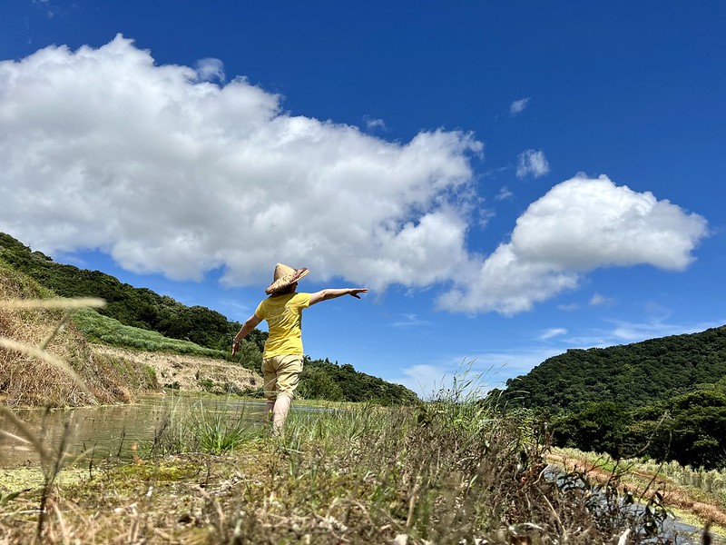
<path id="1" fill-rule="evenodd" d="M 45 407 L 126 402 L 133 386 L 155 387 L 144 368 L 93 354 L 69 320 L 74 309 L 102 304 L 56 298 L 0 262 L 0 401 Z"/>

